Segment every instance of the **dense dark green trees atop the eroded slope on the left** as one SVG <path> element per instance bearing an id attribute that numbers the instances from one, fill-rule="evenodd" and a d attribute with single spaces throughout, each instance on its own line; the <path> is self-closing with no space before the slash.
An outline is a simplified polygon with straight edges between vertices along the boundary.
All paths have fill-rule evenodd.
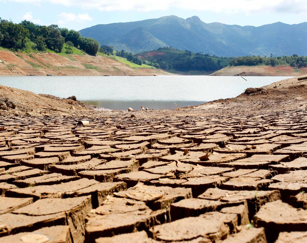
<path id="1" fill-rule="evenodd" d="M 72 46 L 96 55 L 99 42 L 93 38 L 83 37 L 78 31 L 59 28 L 58 25 L 37 25 L 23 20 L 19 24 L 0 18 L 0 46 L 11 50 L 23 50 L 31 42 L 31 47 L 38 51 L 46 48 L 61 52 L 65 43 L 67 53 L 72 53 Z"/>

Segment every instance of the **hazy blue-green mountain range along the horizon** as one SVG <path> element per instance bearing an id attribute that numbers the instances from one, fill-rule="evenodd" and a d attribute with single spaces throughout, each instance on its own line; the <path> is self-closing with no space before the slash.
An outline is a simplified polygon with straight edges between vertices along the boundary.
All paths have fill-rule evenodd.
<path id="1" fill-rule="evenodd" d="M 95 25 L 80 30 L 101 45 L 132 53 L 172 46 L 218 56 L 307 55 L 307 22 L 255 26 L 204 23 L 199 17 L 174 15 L 142 21 Z"/>

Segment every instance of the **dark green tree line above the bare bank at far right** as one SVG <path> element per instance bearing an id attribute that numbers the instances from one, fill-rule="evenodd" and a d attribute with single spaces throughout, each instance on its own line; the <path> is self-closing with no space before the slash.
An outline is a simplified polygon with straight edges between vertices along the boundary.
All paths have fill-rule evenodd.
<path id="1" fill-rule="evenodd" d="M 244 56 L 237 57 L 230 60 L 230 66 L 276 66 L 276 65 L 288 65 L 292 67 L 307 67 L 307 57 L 298 56 L 293 54 L 292 56 L 279 56 L 273 57 L 271 54 L 270 57 L 261 57 L 261 56 Z"/>

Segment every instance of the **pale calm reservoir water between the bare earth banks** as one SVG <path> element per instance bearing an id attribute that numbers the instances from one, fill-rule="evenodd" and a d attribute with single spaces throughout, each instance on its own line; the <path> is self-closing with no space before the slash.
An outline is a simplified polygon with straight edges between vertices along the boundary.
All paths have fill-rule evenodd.
<path id="1" fill-rule="evenodd" d="M 0 84 L 61 98 L 78 100 L 109 109 L 169 109 L 203 104 L 243 93 L 290 77 L 233 76 L 0 76 Z"/>

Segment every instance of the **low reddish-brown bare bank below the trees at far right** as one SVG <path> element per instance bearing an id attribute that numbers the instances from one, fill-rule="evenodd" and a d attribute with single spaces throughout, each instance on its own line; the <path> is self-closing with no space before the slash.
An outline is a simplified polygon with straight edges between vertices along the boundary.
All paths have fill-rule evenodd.
<path id="1" fill-rule="evenodd" d="M 307 68 L 290 66 L 227 66 L 211 76 L 299 76 L 307 74 Z"/>

